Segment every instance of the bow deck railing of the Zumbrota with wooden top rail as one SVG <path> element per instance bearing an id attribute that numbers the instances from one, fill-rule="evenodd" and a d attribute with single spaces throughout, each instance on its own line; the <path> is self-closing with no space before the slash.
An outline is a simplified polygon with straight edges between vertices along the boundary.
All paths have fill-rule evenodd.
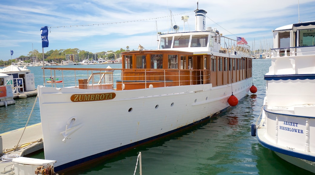
<path id="1" fill-rule="evenodd" d="M 121 84 L 120 86 L 133 84 L 149 88 L 150 85 L 161 87 L 161 84 L 165 87 L 210 83 L 210 70 L 45 67 L 44 71 L 46 87 L 79 88 L 79 79 L 87 79 L 86 85 L 92 89 L 100 88 L 100 84 L 112 85 L 112 88 L 116 89 L 117 84 Z M 55 82 L 48 82 L 51 81 L 50 77 L 53 77 Z"/>

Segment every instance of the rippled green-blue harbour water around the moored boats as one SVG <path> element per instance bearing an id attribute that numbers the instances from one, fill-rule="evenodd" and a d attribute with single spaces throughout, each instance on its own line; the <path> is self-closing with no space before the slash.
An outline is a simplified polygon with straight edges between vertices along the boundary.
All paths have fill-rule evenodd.
<path id="1" fill-rule="evenodd" d="M 64 174 L 133 174 L 139 152 L 142 154 L 144 175 L 310 174 L 282 160 L 261 146 L 256 137 L 251 136 L 250 125 L 256 122 L 260 114 L 266 90 L 264 75 L 270 65 L 270 59 L 253 60 L 253 83 L 258 91 L 255 94 L 249 93 L 237 106 L 186 130 Z M 108 65 L 82 66 L 106 68 Z M 121 67 L 120 64 L 110 66 Z M 42 85 L 41 67 L 28 69 L 34 73 L 35 84 Z M 14 105 L 0 107 L 0 133 L 24 127 L 35 99 L 36 97 L 17 99 Z M 28 125 L 39 122 L 37 101 Z M 31 157 L 44 156 L 41 151 Z M 139 174 L 139 164 L 135 173 Z"/>

